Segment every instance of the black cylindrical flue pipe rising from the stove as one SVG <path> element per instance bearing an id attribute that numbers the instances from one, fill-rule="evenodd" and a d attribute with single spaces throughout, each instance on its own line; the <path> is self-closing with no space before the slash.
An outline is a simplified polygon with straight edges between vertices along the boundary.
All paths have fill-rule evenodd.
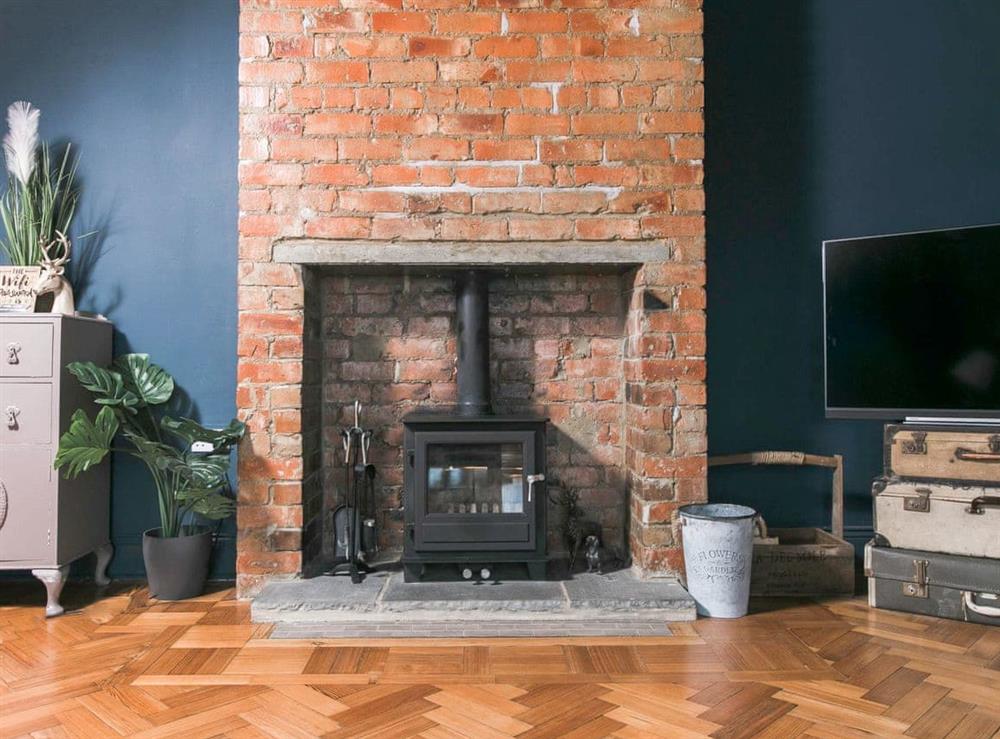
<path id="1" fill-rule="evenodd" d="M 489 275 L 467 270 L 456 277 L 458 319 L 458 413 L 482 416 L 490 403 Z"/>

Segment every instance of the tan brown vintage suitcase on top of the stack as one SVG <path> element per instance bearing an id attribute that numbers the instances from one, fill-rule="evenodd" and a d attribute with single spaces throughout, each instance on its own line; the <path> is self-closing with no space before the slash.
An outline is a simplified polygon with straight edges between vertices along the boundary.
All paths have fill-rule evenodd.
<path id="1" fill-rule="evenodd" d="M 1000 430 L 889 424 L 885 476 L 1000 485 Z"/>

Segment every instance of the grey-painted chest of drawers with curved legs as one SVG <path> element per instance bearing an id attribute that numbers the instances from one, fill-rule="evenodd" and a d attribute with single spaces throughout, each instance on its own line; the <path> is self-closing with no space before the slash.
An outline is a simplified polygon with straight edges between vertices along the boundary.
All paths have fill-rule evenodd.
<path id="1" fill-rule="evenodd" d="M 96 552 L 108 582 L 110 477 L 105 461 L 77 480 L 52 469 L 60 435 L 78 408 L 95 406 L 66 365 L 111 361 L 111 324 L 44 313 L 0 314 L 0 570 L 31 570 L 45 585 L 45 613 L 76 559 Z"/>

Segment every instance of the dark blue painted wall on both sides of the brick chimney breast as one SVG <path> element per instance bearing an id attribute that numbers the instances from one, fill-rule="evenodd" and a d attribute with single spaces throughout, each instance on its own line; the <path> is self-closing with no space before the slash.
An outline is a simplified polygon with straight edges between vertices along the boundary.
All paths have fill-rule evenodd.
<path id="1" fill-rule="evenodd" d="M 0 0 L 0 104 L 32 101 L 82 156 L 75 230 L 100 232 L 101 257 L 80 307 L 211 424 L 234 412 L 237 14 Z M 823 418 L 820 242 L 1000 221 L 1000 5 L 706 0 L 705 23 L 710 449 L 844 454 L 860 540 L 881 426 Z M 828 494 L 822 474 L 711 478 L 776 524 L 822 522 Z M 119 461 L 114 572 L 141 574 L 153 525 L 146 476 Z"/>

